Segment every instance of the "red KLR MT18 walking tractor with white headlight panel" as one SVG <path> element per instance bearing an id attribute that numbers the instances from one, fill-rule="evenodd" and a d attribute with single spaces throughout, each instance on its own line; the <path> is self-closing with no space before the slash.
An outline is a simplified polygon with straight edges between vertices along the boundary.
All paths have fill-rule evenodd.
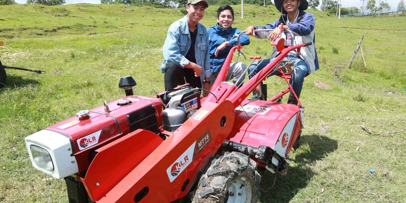
<path id="1" fill-rule="evenodd" d="M 207 97 L 187 85 L 156 98 L 133 95 L 136 82 L 123 77 L 123 98 L 26 137 L 32 165 L 63 178 L 69 202 L 173 202 L 188 194 L 192 202 L 256 202 L 258 167 L 283 172 L 303 123 L 300 103 L 279 102 L 291 89 L 279 64 L 307 44 L 273 45 L 275 60 L 241 87 L 225 81 L 241 50 L 234 46 Z M 287 88 L 246 99 L 275 69 Z"/>

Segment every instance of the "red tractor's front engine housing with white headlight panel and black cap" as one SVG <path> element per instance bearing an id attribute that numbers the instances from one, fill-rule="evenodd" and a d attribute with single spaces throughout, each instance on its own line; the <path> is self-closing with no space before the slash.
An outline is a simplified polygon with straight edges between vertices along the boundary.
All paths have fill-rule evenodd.
<path id="1" fill-rule="evenodd" d="M 76 117 L 26 137 L 32 165 L 57 179 L 84 177 L 94 151 L 101 146 L 140 128 L 160 133 L 161 99 L 132 95 L 135 85 L 132 77 L 123 77 L 119 87 L 125 89 L 125 97 L 80 111 Z"/>

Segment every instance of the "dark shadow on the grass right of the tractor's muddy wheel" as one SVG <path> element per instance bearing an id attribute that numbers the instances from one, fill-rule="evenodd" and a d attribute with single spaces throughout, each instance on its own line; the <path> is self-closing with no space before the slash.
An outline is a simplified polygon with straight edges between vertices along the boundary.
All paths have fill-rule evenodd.
<path id="1" fill-rule="evenodd" d="M 320 138 L 322 140 L 320 140 Z M 302 135 L 300 138 L 301 147 L 295 151 L 293 159 L 288 162 L 294 166 L 288 166 L 285 175 L 277 174 L 275 186 L 271 188 L 274 174 L 264 171 L 262 176 L 260 191 L 261 203 L 265 202 L 289 202 L 301 188 L 307 186 L 308 181 L 315 175 L 309 165 L 322 159 L 326 154 L 337 149 L 337 142 L 317 134 Z M 302 146 L 307 144 L 307 146 Z M 306 148 L 306 149 L 304 149 Z M 291 152 L 292 153 L 292 152 Z"/>

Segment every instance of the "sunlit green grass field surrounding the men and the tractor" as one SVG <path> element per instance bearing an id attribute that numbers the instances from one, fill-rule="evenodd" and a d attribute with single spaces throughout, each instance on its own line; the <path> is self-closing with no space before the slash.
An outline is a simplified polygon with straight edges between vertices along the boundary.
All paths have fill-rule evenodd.
<path id="1" fill-rule="evenodd" d="M 234 6 L 234 25 L 240 29 L 279 16 L 272 6 L 244 8 L 241 19 L 241 6 Z M 201 20 L 206 27 L 215 23 L 216 9 L 206 11 Z M 0 6 L 2 63 L 46 71 L 6 70 L 7 86 L 0 89 L 1 202 L 67 201 L 63 180 L 48 180 L 31 166 L 24 138 L 122 97 L 121 76 L 137 81 L 134 94 L 163 91 L 161 47 L 181 10 Z M 274 176 L 263 174 L 260 202 L 406 202 L 406 16 L 338 20 L 309 11 L 316 16 L 321 66 L 306 78 L 301 94 L 302 145 L 290 153 L 289 171 L 278 175 L 273 188 Z M 362 35 L 367 66 L 358 53 L 347 69 Z M 243 51 L 264 56 L 269 48 L 253 39 Z M 330 88 L 318 87 L 319 82 Z M 275 94 L 282 81 L 271 77 L 266 83 L 268 94 Z M 370 168 L 376 172 L 366 172 Z"/>

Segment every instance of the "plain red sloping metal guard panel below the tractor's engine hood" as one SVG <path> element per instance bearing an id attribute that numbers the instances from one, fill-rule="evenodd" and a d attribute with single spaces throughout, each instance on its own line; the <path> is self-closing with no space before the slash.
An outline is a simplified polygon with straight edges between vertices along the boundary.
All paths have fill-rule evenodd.
<path id="1" fill-rule="evenodd" d="M 138 129 L 97 150 L 84 181 L 91 199 L 115 186 L 163 142 L 157 134 Z M 110 187 L 109 187 L 110 186 Z"/>

